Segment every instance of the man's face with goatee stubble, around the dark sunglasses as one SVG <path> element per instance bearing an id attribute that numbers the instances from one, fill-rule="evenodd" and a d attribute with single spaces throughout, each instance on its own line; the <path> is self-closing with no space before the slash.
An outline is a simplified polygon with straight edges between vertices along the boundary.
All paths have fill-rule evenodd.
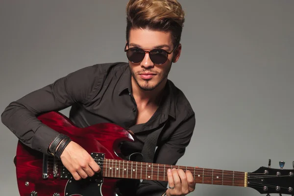
<path id="1" fill-rule="evenodd" d="M 153 50 L 154 52 L 152 52 L 152 54 L 149 54 L 147 51 L 152 49 L 164 49 L 168 52 L 172 51 L 174 48 L 172 46 L 171 33 L 147 29 L 131 29 L 129 43 L 126 49 L 134 47 L 143 49 L 145 51 L 145 56 L 144 52 L 142 52 L 142 57 L 144 56 L 142 61 L 136 63 L 129 61 L 132 73 L 132 84 L 137 85 L 145 91 L 151 91 L 158 86 L 164 86 L 171 70 L 172 62 L 177 62 L 180 56 L 181 45 L 171 54 L 168 54 L 166 62 L 163 64 L 156 64 L 156 60 L 152 58 L 152 54 L 158 59 L 160 55 L 163 54 L 162 51 Z M 152 62 L 151 59 L 153 59 L 154 62 Z"/>

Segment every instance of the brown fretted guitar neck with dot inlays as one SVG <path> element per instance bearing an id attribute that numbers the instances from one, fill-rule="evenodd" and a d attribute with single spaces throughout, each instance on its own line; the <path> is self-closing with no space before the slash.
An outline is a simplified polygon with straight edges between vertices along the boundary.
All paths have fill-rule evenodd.
<path id="1" fill-rule="evenodd" d="M 168 169 L 189 170 L 198 184 L 214 184 L 225 186 L 247 186 L 247 173 L 195 168 L 186 166 L 173 166 L 155 163 L 144 163 L 126 160 L 104 159 L 103 176 L 113 178 L 129 178 L 143 180 L 168 181 Z"/>

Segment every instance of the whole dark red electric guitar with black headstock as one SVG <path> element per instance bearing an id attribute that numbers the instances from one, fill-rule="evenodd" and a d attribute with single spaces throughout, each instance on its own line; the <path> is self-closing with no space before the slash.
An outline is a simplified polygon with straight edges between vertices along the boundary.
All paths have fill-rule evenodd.
<path id="1" fill-rule="evenodd" d="M 85 148 L 101 168 L 95 176 L 74 180 L 61 161 L 18 142 L 14 159 L 20 196 L 114 196 L 122 178 L 168 181 L 167 169 L 181 168 L 194 174 L 197 184 L 250 187 L 260 194 L 294 194 L 294 170 L 260 167 L 255 172 L 236 172 L 123 160 L 122 141 L 134 142 L 133 134 L 112 123 L 76 127 L 58 112 L 38 117 L 52 129 L 68 135 Z"/>

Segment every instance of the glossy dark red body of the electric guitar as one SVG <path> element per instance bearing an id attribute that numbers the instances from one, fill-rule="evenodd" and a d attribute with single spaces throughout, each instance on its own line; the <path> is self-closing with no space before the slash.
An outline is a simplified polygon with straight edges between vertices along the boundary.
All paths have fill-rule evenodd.
<path id="1" fill-rule="evenodd" d="M 78 128 L 57 112 L 43 114 L 38 119 L 68 135 L 89 154 L 94 153 L 93 158 L 98 156 L 95 153 L 100 153 L 99 156 L 105 159 L 122 160 L 120 143 L 134 142 L 130 132 L 112 123 Z M 115 184 L 120 178 L 95 175 L 76 181 L 60 163 L 60 160 L 18 142 L 15 165 L 20 196 L 115 196 Z"/>

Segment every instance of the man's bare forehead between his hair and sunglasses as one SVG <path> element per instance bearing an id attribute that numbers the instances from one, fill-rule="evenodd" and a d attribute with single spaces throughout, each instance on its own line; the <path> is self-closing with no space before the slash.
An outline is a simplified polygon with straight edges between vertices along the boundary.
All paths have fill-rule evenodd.
<path id="1" fill-rule="evenodd" d="M 154 48 L 160 45 L 172 47 L 172 36 L 170 32 L 155 31 L 149 29 L 131 29 L 129 43 L 141 47 Z"/>

